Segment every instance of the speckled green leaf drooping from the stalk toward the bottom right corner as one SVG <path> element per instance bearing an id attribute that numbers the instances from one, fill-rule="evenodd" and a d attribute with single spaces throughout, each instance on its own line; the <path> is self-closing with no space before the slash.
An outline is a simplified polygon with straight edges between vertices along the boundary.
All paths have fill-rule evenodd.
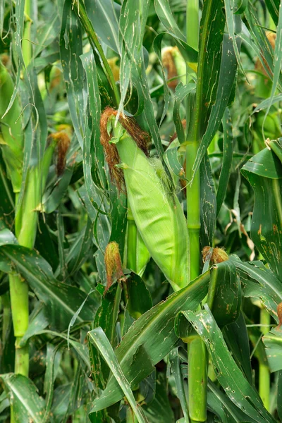
<path id="1" fill-rule="evenodd" d="M 247 382 L 235 364 L 219 326 L 207 305 L 200 312 L 183 312 L 207 346 L 219 383 L 233 403 L 257 423 L 274 423 L 275 419 L 263 407 L 257 391 Z"/>

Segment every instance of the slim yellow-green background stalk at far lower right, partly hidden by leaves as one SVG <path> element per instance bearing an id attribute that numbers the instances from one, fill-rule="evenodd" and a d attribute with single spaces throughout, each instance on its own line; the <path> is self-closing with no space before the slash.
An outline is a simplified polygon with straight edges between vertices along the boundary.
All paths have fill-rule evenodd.
<path id="1" fill-rule="evenodd" d="M 265 308 L 260 311 L 260 323 L 262 333 L 269 332 L 270 314 Z M 259 362 L 259 396 L 262 398 L 266 410 L 270 410 L 270 372 L 267 363 Z"/>

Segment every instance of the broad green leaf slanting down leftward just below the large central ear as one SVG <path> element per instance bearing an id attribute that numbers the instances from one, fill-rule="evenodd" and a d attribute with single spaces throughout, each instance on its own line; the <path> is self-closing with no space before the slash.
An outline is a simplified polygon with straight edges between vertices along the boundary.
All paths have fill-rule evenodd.
<path id="1" fill-rule="evenodd" d="M 207 294 L 209 272 L 189 286 L 170 295 L 135 321 L 116 348 L 116 357 L 128 382 L 135 386 L 154 369 L 176 345 L 174 319 L 182 309 L 196 309 Z M 116 403 L 123 397 L 116 379 L 110 376 L 102 395 L 94 400 L 93 412 Z"/>

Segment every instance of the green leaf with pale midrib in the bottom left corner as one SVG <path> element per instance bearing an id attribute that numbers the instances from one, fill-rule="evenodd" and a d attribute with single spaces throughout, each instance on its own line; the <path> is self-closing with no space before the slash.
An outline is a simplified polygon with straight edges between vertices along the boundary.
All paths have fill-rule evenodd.
<path id="1" fill-rule="evenodd" d="M 16 422 L 42 422 L 45 403 L 37 393 L 35 385 L 30 379 L 21 374 L 2 374 L 10 404 L 13 407 L 13 417 Z M 52 422 L 52 419 L 50 419 Z"/>

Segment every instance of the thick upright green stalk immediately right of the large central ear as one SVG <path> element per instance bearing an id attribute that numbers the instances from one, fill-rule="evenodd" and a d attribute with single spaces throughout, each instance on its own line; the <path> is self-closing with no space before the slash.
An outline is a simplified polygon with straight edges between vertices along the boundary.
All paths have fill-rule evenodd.
<path id="1" fill-rule="evenodd" d="M 187 0 L 186 9 L 187 42 L 194 49 L 199 44 L 199 1 Z M 189 75 L 187 74 L 187 80 Z M 200 98 L 197 87 L 197 99 Z M 190 114 L 190 111 L 188 111 Z M 188 118 L 189 115 L 187 115 Z M 199 116 L 192 116 L 199 122 Z M 195 119 L 196 117 L 196 119 Z M 187 221 L 190 240 L 190 281 L 200 274 L 200 173 L 193 175 L 193 164 L 200 144 L 198 124 L 187 137 L 186 178 L 192 184 L 186 187 Z M 188 346 L 189 416 L 191 422 L 205 422 L 207 419 L 207 371 L 209 355 L 200 336 L 193 336 Z"/>

